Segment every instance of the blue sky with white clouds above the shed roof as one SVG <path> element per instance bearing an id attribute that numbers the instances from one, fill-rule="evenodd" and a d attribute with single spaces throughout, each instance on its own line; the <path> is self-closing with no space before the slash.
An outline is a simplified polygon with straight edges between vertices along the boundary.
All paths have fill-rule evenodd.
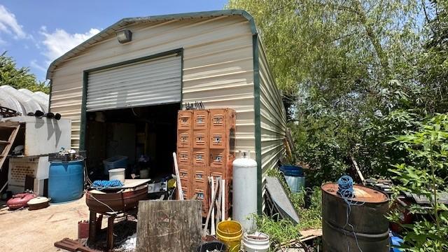
<path id="1" fill-rule="evenodd" d="M 122 18 L 221 10 L 226 0 L 2 0 L 0 53 L 45 80 L 48 65 Z"/>

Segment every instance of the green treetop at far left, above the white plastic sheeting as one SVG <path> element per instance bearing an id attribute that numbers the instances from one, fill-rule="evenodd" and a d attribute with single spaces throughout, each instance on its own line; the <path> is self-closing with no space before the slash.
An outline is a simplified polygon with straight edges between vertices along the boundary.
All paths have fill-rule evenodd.
<path id="1" fill-rule="evenodd" d="M 45 82 L 38 82 L 36 76 L 29 72 L 29 68 L 17 68 L 12 57 L 6 52 L 0 55 L 0 85 L 10 85 L 17 89 L 26 88 L 33 92 L 41 91 L 48 94 L 50 87 Z"/>

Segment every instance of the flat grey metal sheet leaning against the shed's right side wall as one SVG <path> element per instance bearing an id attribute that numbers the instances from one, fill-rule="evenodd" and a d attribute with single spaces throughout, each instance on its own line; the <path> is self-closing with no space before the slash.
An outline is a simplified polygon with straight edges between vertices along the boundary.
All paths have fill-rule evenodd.
<path id="1" fill-rule="evenodd" d="M 290 202 L 288 195 L 286 195 L 285 189 L 281 186 L 279 179 L 267 176 L 266 189 L 276 208 L 279 209 L 281 216 L 293 221 L 293 223 L 299 223 L 299 216 L 293 204 Z"/>

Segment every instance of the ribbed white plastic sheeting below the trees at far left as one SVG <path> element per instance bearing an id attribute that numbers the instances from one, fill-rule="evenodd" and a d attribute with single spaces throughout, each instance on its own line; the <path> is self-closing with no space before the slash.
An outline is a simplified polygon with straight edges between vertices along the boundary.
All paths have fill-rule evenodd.
<path id="1" fill-rule="evenodd" d="M 47 112 L 48 94 L 25 89 L 19 91 L 9 85 L 2 85 L 0 86 L 0 106 L 18 111 L 22 115 L 36 110 Z"/>

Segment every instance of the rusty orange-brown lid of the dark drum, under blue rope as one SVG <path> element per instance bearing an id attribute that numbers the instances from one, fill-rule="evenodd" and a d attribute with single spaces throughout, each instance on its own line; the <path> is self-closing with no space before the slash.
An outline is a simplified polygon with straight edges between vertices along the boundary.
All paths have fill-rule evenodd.
<path id="1" fill-rule="evenodd" d="M 342 200 L 342 197 L 340 197 L 337 194 L 337 189 L 339 186 L 337 183 L 325 183 L 321 186 L 321 190 L 324 193 L 328 193 L 329 195 L 333 195 L 335 197 L 339 197 Z M 385 193 L 380 192 L 379 190 L 375 190 L 373 188 L 368 188 L 365 186 L 360 185 L 353 185 L 353 191 L 355 197 L 351 198 L 350 200 L 356 201 L 356 202 L 366 202 L 366 203 L 385 203 L 388 202 L 389 197 Z"/>

